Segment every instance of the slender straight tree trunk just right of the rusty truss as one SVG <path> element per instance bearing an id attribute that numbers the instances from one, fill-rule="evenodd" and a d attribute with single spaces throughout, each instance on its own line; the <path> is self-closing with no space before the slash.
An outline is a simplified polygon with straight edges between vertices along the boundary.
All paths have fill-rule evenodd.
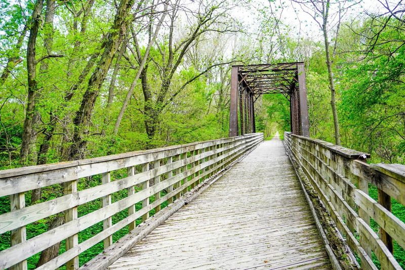
<path id="1" fill-rule="evenodd" d="M 328 14 L 326 14 L 326 16 L 328 16 Z M 324 17 L 322 30 L 323 30 L 323 38 L 325 39 L 325 53 L 326 53 L 326 64 L 328 67 L 329 88 L 331 89 L 331 107 L 332 107 L 332 114 L 333 114 L 333 123 L 335 126 L 335 144 L 340 145 L 339 120 L 338 120 L 338 112 L 336 109 L 335 83 L 333 81 L 334 78 L 333 78 L 333 72 L 332 72 L 332 61 L 331 61 L 331 55 L 329 52 L 327 19 L 328 19 L 328 17 Z"/>

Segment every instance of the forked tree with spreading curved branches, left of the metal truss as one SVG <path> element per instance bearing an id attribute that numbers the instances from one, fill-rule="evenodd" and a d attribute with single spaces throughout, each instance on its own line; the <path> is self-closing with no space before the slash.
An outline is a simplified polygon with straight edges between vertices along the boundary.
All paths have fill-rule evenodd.
<path id="1" fill-rule="evenodd" d="M 159 116 L 161 111 L 168 106 L 173 99 L 184 90 L 187 84 L 191 83 L 201 75 L 205 74 L 211 68 L 223 63 L 215 63 L 207 67 L 205 70 L 200 71 L 191 79 L 186 81 L 183 85 L 179 86 L 177 91 L 170 93 L 170 85 L 174 78 L 175 72 L 183 61 L 187 51 L 193 46 L 197 38 L 204 33 L 211 31 L 215 32 L 232 32 L 237 31 L 235 25 L 229 24 L 226 21 L 227 11 L 230 8 L 227 2 L 222 0 L 220 2 L 208 2 L 199 3 L 198 10 L 187 11 L 182 9 L 180 2 L 177 1 L 173 7 L 172 12 L 169 14 L 170 22 L 168 29 L 168 42 L 158 44 L 157 49 L 158 56 L 150 58 L 160 78 L 160 86 L 155 91 L 152 91 L 148 81 L 148 68 L 149 65 L 145 65 L 143 73 L 141 74 L 142 92 L 144 96 L 144 117 L 146 133 L 148 135 L 148 148 L 153 147 L 153 138 L 158 127 Z M 175 38 L 175 21 L 179 14 L 184 12 L 186 16 L 190 16 L 195 20 L 195 23 L 187 29 L 187 33 L 183 34 L 181 38 L 176 40 Z M 190 18 L 190 19 L 191 19 Z M 140 55 L 140 48 L 137 47 L 137 54 Z M 153 92 L 156 95 L 153 95 Z M 170 98 L 167 98 L 168 95 Z"/>

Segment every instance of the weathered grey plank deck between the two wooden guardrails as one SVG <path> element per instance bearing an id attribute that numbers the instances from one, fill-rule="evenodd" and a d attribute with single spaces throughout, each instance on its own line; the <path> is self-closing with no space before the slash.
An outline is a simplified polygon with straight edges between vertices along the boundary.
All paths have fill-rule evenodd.
<path id="1" fill-rule="evenodd" d="M 286 150 L 265 141 L 109 269 L 331 269 Z"/>

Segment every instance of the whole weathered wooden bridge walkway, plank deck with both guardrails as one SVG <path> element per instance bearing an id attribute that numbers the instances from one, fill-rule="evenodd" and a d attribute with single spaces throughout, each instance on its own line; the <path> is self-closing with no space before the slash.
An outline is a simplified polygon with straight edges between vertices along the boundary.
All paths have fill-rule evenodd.
<path id="1" fill-rule="evenodd" d="M 284 145 L 252 133 L 4 170 L 0 195 L 10 197 L 11 209 L 0 215 L 0 233 L 11 247 L 0 251 L 0 268 L 26 269 L 32 256 L 63 241 L 66 251 L 39 269 L 377 269 L 377 261 L 400 269 L 392 242 L 405 246 L 405 225 L 389 204 L 390 197 L 405 201 L 405 169 L 367 164 L 367 157 L 289 132 Z M 98 185 L 83 185 L 97 175 Z M 64 195 L 25 205 L 33 189 L 61 184 Z M 368 195 L 372 185 L 378 202 Z M 116 200 L 122 191 L 128 195 Z M 78 214 L 96 200 L 99 209 Z M 58 213 L 63 224 L 27 239 L 30 224 Z M 144 222 L 136 226 L 137 219 Z M 79 241 L 100 222 L 101 230 Z M 114 242 L 123 228 L 130 233 Z M 104 251 L 79 265 L 99 242 Z"/>

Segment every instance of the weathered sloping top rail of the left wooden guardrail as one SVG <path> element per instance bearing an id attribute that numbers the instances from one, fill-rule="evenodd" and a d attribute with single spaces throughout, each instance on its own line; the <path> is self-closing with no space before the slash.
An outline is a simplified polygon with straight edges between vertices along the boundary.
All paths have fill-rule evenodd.
<path id="1" fill-rule="evenodd" d="M 258 136 L 259 133 L 254 133 L 208 142 L 197 142 L 187 145 L 156 148 L 147 151 L 137 151 L 99 158 L 47 164 L 46 166 L 38 165 L 0 170 L 0 196 L 21 193 L 55 184 L 62 184 L 81 177 L 87 177 L 120 168 L 127 168 L 146 162 L 153 162 L 180 153 L 186 153 L 208 146 L 216 146 L 222 142 L 243 144 L 247 140 Z"/>

